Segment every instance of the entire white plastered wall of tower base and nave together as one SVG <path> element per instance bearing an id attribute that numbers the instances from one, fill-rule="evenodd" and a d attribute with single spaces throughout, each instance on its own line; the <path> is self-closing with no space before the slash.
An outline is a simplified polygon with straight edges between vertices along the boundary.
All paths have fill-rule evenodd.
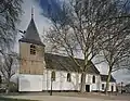
<path id="1" fill-rule="evenodd" d="M 20 91 L 42 91 L 51 90 L 51 70 L 44 70 L 43 75 L 20 74 Z M 55 80 L 52 83 L 52 90 L 79 90 L 80 76 L 78 73 L 70 73 L 72 81 L 67 81 L 67 73 L 55 71 Z M 100 75 L 95 75 L 95 84 L 92 83 L 92 74 L 87 74 L 86 85 L 90 85 L 90 91 L 100 89 Z M 86 89 L 84 89 L 86 91 Z"/>

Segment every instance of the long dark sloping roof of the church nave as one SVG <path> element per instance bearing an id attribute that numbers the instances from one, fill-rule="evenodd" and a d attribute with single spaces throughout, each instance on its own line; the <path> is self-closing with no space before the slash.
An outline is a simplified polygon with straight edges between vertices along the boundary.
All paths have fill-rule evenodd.
<path id="1" fill-rule="evenodd" d="M 73 60 L 68 56 L 62 56 L 57 54 L 46 53 L 44 60 L 47 64 L 47 68 L 56 70 L 56 71 L 67 71 L 67 72 L 81 72 L 81 70 L 75 64 Z M 83 60 L 76 59 L 79 64 L 83 66 Z M 98 68 L 94 66 L 92 62 L 89 62 L 90 66 L 87 73 L 90 74 L 100 74 Z"/>

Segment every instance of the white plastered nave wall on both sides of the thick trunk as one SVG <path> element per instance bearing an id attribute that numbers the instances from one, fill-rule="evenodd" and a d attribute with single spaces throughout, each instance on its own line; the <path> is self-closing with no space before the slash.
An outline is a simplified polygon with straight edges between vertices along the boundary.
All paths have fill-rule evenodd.
<path id="1" fill-rule="evenodd" d="M 51 90 L 51 70 L 43 73 L 43 90 Z M 67 73 L 64 71 L 55 71 L 55 80 L 52 83 L 52 90 L 80 90 L 80 76 L 78 73 L 70 73 L 72 81 L 67 81 Z M 86 85 L 90 85 L 90 91 L 100 90 L 100 75 L 95 76 L 95 84 L 92 83 L 92 74 L 87 74 Z M 86 91 L 86 89 L 84 89 Z"/>

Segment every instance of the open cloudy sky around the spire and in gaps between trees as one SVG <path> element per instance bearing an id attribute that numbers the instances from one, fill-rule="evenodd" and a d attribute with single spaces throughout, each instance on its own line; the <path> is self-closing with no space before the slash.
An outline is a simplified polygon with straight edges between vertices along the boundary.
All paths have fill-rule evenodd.
<path id="1" fill-rule="evenodd" d="M 21 17 L 21 23 L 18 25 L 18 29 L 26 30 L 30 18 L 31 18 L 31 8 L 34 8 L 34 20 L 39 31 L 40 37 L 43 37 L 43 31 L 50 27 L 50 21 L 43 16 L 49 10 L 50 4 L 53 13 L 60 10 L 60 5 L 57 2 L 61 0 L 24 0 L 22 5 L 23 8 L 23 15 Z M 18 52 L 18 39 L 21 38 L 21 34 L 18 34 L 17 42 L 16 42 L 16 51 Z M 101 74 L 107 73 L 106 64 L 99 64 L 96 67 L 100 70 Z M 118 71 L 113 74 L 113 76 L 117 79 L 118 83 L 125 81 L 126 84 L 130 81 L 130 73 L 127 71 Z"/>

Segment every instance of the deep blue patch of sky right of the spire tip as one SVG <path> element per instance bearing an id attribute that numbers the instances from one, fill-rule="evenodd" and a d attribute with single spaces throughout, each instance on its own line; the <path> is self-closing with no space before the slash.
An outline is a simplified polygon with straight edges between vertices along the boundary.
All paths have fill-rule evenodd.
<path id="1" fill-rule="evenodd" d="M 66 4 L 66 8 L 63 8 Z M 42 15 L 50 20 L 56 21 L 56 23 L 63 23 L 65 20 L 69 20 L 66 12 L 69 11 L 69 5 L 63 0 L 40 0 L 39 5 L 42 9 Z M 68 22 L 64 23 L 68 23 Z"/>

